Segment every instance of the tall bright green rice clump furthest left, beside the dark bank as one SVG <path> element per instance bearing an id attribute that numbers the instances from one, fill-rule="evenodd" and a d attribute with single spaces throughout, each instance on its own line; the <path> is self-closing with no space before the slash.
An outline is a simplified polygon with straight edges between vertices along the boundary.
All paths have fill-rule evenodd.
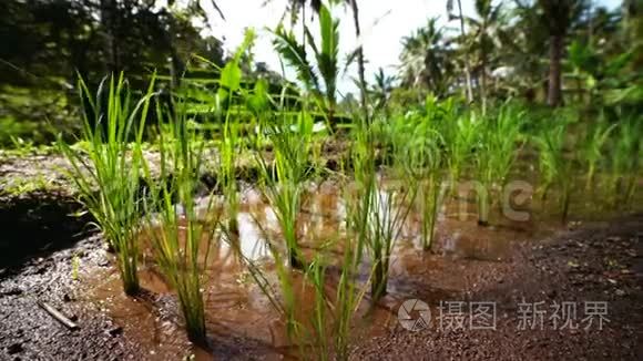
<path id="1" fill-rule="evenodd" d="M 93 97 L 79 80 L 84 109 L 82 141 L 85 153 L 59 136 L 58 145 L 71 164 L 70 178 L 83 205 L 116 254 L 126 295 L 139 291 L 136 233 L 141 215 L 141 148 L 154 78 L 146 94 L 134 102 L 123 74 L 103 80 Z M 85 101 L 86 100 L 86 101 Z M 94 117 L 90 118 L 89 114 Z M 132 141 L 131 144 L 129 142 Z"/>

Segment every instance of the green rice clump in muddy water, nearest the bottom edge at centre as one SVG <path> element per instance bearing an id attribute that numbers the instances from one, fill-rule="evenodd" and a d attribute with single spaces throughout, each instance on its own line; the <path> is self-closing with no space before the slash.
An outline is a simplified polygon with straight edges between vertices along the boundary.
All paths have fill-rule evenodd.
<path id="1" fill-rule="evenodd" d="M 347 188 L 345 188 L 347 189 Z M 351 197 L 349 190 L 347 199 Z M 354 219 L 350 213 L 348 219 Z M 264 226 L 257 226 L 266 237 L 268 233 Z M 320 241 L 320 240 L 318 240 Z M 265 270 L 242 256 L 255 282 L 264 295 L 268 297 L 275 310 L 285 319 L 286 334 L 292 342 L 296 342 L 303 359 L 309 358 L 310 345 L 317 351 L 316 357 L 322 360 L 335 359 L 347 360 L 350 344 L 350 326 L 364 298 L 367 287 L 359 282 L 359 266 L 364 255 L 364 243 L 350 235 L 331 235 L 317 250 L 313 259 L 304 269 L 293 269 L 286 266 L 283 252 L 277 247 L 269 247 L 275 260 L 275 271 L 278 278 L 279 290 L 275 290 L 267 281 Z M 341 252 L 341 261 L 337 264 L 336 249 Z M 303 276 L 303 285 L 296 279 Z M 337 275 L 337 279 L 333 276 Z M 310 312 L 303 312 L 309 305 L 302 305 L 303 299 L 298 289 L 313 292 L 313 307 Z M 305 317 L 305 318 L 302 318 Z"/>

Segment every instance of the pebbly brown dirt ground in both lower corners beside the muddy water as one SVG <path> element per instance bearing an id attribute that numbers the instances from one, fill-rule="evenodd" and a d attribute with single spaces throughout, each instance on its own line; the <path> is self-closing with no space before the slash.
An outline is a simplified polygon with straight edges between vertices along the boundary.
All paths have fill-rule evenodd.
<path id="1" fill-rule="evenodd" d="M 442 257 L 443 261 L 431 270 L 420 271 L 412 278 L 412 285 L 396 283 L 395 292 L 379 306 L 389 314 L 386 327 L 355 340 L 351 358 L 641 360 L 642 237 L 643 215 L 635 215 L 580 225 L 578 229 L 559 231 L 537 244 L 517 245 L 502 261 L 435 256 Z M 147 309 L 149 317 L 164 324 L 167 332 L 154 336 L 154 342 L 142 339 L 145 332 L 119 324 L 109 305 L 89 297 L 89 288 L 84 289 L 74 275 L 74 262 L 82 262 L 93 274 L 110 274 L 112 265 L 108 258 L 102 241 L 94 236 L 71 248 L 4 268 L 0 276 L 0 359 L 279 358 L 283 350 L 239 338 L 234 332 L 226 336 L 223 330 L 212 331 L 217 342 L 210 352 L 192 348 L 181 337 L 180 320 L 172 312 L 162 311 L 174 308 L 174 301 L 152 292 L 132 302 L 140 303 L 142 310 Z M 429 324 L 418 331 L 406 330 L 397 321 L 399 306 L 412 298 L 429 303 L 432 316 Z M 39 301 L 61 310 L 80 329 L 68 330 Z M 585 330 L 588 324 L 582 322 L 588 316 L 585 302 L 594 301 L 606 302 L 606 320 L 599 329 L 594 318 L 594 323 Z M 463 302 L 465 308 L 459 310 L 462 313 L 447 312 L 447 302 Z M 471 314 L 467 308 L 471 302 L 494 302 L 496 330 L 471 329 L 467 320 L 461 328 L 457 323 L 440 323 L 440 319 L 448 321 L 448 317 L 452 320 L 456 316 Z M 542 327 L 538 317 L 524 310 L 524 305 L 534 302 L 541 302 L 538 310 L 547 311 Z M 552 314 L 554 305 L 562 302 L 576 305 L 576 314 L 568 317 L 571 327 L 561 330 L 565 318 L 557 328 Z M 445 306 L 442 317 L 440 305 Z M 411 312 L 411 317 L 418 314 Z M 521 327 L 527 319 L 532 321 L 533 329 Z M 363 333 L 356 330 L 356 334 Z M 156 347 L 163 342 L 172 347 Z"/>

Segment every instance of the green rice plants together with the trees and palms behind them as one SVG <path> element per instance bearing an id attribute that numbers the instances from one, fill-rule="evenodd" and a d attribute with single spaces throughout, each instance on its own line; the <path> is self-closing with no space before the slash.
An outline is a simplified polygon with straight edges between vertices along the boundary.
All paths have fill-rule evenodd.
<path id="1" fill-rule="evenodd" d="M 58 1 L 64 28 L 58 18 L 33 18 L 53 2 L 11 0 L 12 11 L 0 19 L 14 32 L 12 44 L 53 45 L 43 51 L 51 64 L 30 56 L 33 49 L 0 54 L 0 69 L 16 71 L 0 75 L 7 83 L 0 126 L 9 131 L 0 145 L 29 157 L 52 140 L 33 124 L 64 131 L 57 145 L 69 161 L 69 179 L 115 251 L 125 293 L 139 292 L 139 262 L 149 260 L 176 295 L 193 342 L 208 343 L 205 276 L 212 246 L 226 241 L 302 357 L 313 348 L 320 359 L 346 360 L 364 299 L 378 306 L 391 289 L 396 245 L 419 239 L 418 252 L 440 257 L 429 251 L 443 247 L 436 236 L 442 216 L 456 218 L 448 206 L 468 205 L 461 185 L 474 185 L 480 226 L 509 218 L 502 212 L 512 179 L 538 182 L 542 206 L 529 210 L 560 214 L 563 224 L 582 218 L 574 206 L 590 190 L 615 212 L 637 206 L 640 7 L 627 3 L 616 13 L 580 0 L 511 7 L 480 0 L 468 17 L 460 1 L 446 2 L 448 20 L 430 19 L 404 38 L 400 73 L 380 69 L 375 84 L 366 84 L 355 0 L 288 2 L 293 16 L 312 6 L 315 17 L 304 13 L 300 23 L 269 31 L 276 54 L 294 71 L 290 80 L 285 69 L 277 74 L 254 63 L 258 33 L 252 29 L 224 59 L 221 42 L 202 38 L 193 24 L 206 17 L 198 1 L 113 1 L 98 10 Z M 339 3 L 354 16 L 359 44 L 346 59 Z M 11 17 L 59 30 L 64 44 Z M 146 25 L 146 19 L 155 21 Z M 450 21 L 459 31 L 449 30 Z M 360 102 L 338 89 L 355 61 Z M 121 75 L 96 82 L 105 70 Z M 81 79 L 75 86 L 68 84 L 72 73 Z M 47 112 L 31 118 L 21 107 Z M 243 161 L 256 171 L 244 180 L 278 228 L 254 219 L 269 250 L 261 262 L 244 254 L 237 223 L 246 206 Z M 207 192 L 204 174 L 215 179 Z M 306 202 L 324 177 L 341 195 L 343 226 L 314 237 L 304 227 Z M 45 180 L 7 183 L 1 190 L 30 192 Z"/>

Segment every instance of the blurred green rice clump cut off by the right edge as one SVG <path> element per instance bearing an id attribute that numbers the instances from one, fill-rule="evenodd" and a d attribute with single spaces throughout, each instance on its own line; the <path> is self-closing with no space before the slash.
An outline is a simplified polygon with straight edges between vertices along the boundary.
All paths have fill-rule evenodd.
<path id="1" fill-rule="evenodd" d="M 611 154 L 610 187 L 613 206 L 627 207 L 636 192 L 643 158 L 643 123 L 634 115 L 620 121 Z"/>

